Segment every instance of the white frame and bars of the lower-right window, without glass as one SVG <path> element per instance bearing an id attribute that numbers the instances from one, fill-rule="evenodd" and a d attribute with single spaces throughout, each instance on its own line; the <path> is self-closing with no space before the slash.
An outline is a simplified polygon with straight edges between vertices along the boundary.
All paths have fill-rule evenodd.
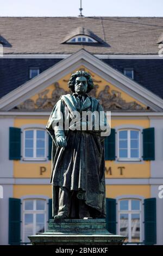
<path id="1" fill-rule="evenodd" d="M 120 202 L 122 200 L 128 200 L 128 210 L 120 210 Z M 131 200 L 139 200 L 140 202 L 140 210 L 131 210 Z M 131 242 L 131 214 L 140 214 L 140 241 L 142 242 L 142 203 L 139 198 L 122 198 L 118 200 L 118 234 L 120 235 L 120 215 L 128 214 L 128 242 Z M 137 243 L 137 242 L 135 242 Z"/>

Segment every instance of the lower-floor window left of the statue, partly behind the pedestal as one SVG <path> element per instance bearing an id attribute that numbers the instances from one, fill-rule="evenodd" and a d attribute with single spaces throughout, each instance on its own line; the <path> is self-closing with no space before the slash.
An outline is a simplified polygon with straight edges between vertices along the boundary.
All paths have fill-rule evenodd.
<path id="1" fill-rule="evenodd" d="M 30 242 L 29 235 L 42 233 L 46 229 L 46 200 L 23 200 L 23 242 Z"/>

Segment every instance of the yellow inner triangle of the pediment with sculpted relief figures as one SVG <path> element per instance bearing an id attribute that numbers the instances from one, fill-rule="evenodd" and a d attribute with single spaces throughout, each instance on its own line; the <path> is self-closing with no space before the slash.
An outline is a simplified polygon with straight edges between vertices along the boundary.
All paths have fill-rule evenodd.
<path id="1" fill-rule="evenodd" d="M 22 111 L 52 111 L 55 103 L 59 97 L 64 94 L 71 94 L 71 90 L 67 87 L 70 76 L 77 70 L 84 70 L 91 74 L 95 87 L 89 93 L 90 96 L 98 99 L 105 111 L 149 111 L 149 107 L 144 105 L 134 97 L 124 93 L 118 89 L 114 84 L 106 81 L 101 76 L 95 74 L 90 69 L 81 65 L 70 74 L 62 77 L 57 82 L 54 82 L 46 89 L 33 95 L 21 104 L 14 107 L 14 109 Z"/>

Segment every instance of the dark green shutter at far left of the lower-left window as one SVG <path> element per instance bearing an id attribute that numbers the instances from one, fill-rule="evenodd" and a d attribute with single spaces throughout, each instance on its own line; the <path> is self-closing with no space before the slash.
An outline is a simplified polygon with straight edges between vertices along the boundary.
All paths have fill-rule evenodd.
<path id="1" fill-rule="evenodd" d="M 21 199 L 9 198 L 9 245 L 19 245 L 21 234 Z"/>

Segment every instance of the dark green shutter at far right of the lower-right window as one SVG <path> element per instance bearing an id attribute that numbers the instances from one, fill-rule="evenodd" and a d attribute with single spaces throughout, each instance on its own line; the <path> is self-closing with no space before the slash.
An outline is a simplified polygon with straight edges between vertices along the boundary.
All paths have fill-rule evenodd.
<path id="1" fill-rule="evenodd" d="M 156 198 L 148 198 L 144 201 L 145 206 L 145 243 L 156 243 Z"/>

